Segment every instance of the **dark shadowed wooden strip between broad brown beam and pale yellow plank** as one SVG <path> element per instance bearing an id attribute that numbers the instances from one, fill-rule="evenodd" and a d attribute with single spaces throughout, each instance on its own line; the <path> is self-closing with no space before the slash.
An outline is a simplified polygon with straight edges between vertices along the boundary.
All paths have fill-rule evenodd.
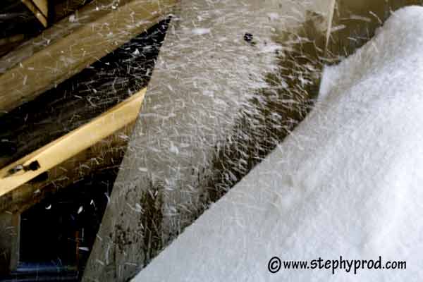
<path id="1" fill-rule="evenodd" d="M 0 168 L 88 123 L 147 86 L 168 21 L 0 117 Z"/>

